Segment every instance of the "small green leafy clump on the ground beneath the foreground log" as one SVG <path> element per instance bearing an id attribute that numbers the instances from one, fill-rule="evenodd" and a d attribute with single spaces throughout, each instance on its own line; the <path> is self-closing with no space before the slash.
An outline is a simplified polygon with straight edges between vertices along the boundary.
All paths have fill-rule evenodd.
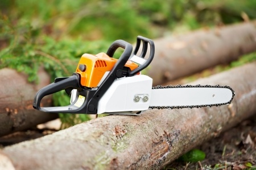
<path id="1" fill-rule="evenodd" d="M 201 150 L 193 149 L 188 151 L 186 154 L 179 157 L 179 161 L 183 162 L 197 162 L 205 159 L 205 153 Z"/>

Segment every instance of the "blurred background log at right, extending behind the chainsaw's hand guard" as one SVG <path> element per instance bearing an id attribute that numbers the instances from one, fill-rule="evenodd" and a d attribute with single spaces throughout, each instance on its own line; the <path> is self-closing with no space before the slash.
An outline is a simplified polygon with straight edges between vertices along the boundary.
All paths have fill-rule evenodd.
<path id="1" fill-rule="evenodd" d="M 256 51 L 256 22 L 200 30 L 154 40 L 155 57 L 147 75 L 160 85 Z"/>

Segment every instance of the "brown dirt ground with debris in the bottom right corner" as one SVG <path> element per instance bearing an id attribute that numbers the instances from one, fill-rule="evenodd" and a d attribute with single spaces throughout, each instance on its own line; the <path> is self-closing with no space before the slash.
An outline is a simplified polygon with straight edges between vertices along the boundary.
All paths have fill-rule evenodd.
<path id="1" fill-rule="evenodd" d="M 205 153 L 203 161 L 174 161 L 165 169 L 256 169 L 256 115 L 196 148 Z"/>

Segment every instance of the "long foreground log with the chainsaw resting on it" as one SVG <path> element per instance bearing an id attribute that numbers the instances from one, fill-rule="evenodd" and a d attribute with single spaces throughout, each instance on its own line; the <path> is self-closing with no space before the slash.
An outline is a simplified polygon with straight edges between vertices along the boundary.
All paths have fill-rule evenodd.
<path id="1" fill-rule="evenodd" d="M 230 85 L 236 96 L 228 106 L 110 115 L 3 148 L 0 154 L 16 169 L 160 169 L 256 113 L 255 72 L 251 63 L 193 82 Z"/>

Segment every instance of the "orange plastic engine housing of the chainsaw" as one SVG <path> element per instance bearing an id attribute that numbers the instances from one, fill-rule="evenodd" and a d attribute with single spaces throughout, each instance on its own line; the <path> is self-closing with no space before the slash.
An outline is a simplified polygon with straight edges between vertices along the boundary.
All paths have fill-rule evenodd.
<path id="1" fill-rule="evenodd" d="M 81 85 L 88 88 L 97 87 L 104 74 L 111 71 L 117 60 L 109 57 L 104 52 L 97 55 L 90 55 L 88 53 L 82 55 L 76 68 L 76 73 L 79 73 L 81 76 Z M 138 65 L 128 60 L 125 67 L 133 71 Z"/>

